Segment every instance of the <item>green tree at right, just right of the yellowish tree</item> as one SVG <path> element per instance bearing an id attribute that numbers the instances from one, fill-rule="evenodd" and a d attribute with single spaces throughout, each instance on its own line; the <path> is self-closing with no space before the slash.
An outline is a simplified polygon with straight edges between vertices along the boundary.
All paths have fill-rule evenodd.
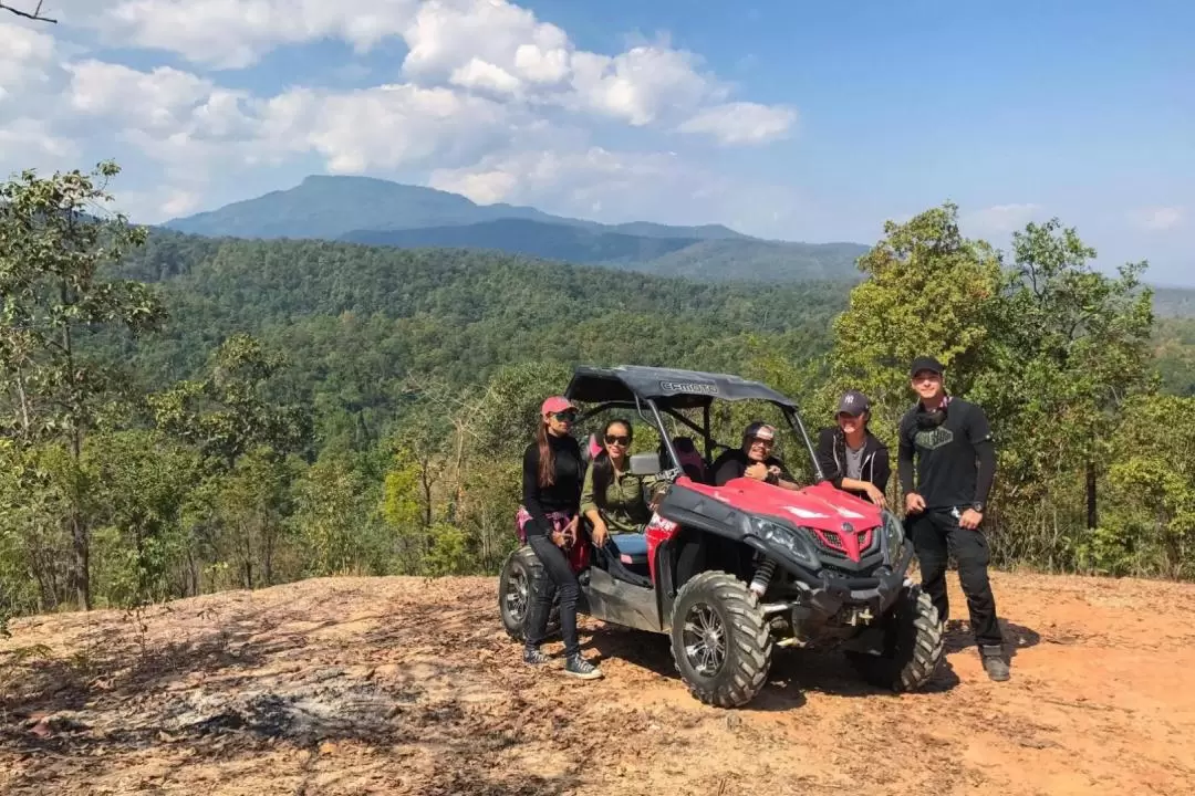
<path id="1" fill-rule="evenodd" d="M 1087 527 L 1098 525 L 1097 481 L 1105 440 L 1128 396 L 1152 389 L 1152 296 L 1145 264 L 1117 278 L 1054 218 L 1013 234 L 1012 265 L 987 317 L 987 370 L 976 393 L 1000 426 L 1003 488 L 1031 504 L 1059 464 L 1081 473 Z M 1053 476 L 1053 477 L 1052 477 Z"/>

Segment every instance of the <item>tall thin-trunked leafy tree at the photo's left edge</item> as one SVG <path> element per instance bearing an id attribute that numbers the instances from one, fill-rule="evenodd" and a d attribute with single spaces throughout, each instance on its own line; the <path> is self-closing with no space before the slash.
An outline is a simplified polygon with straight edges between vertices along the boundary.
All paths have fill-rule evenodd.
<path id="1" fill-rule="evenodd" d="M 25 171 L 0 185 L 0 433 L 22 445 L 66 440 L 75 469 L 67 522 L 74 553 L 75 599 L 91 607 L 90 526 L 79 462 L 87 433 L 120 393 L 114 369 L 80 350 L 97 328 L 134 334 L 157 327 L 164 311 L 136 282 L 102 271 L 145 241 L 122 215 L 100 218 L 110 200 L 100 180 L 120 168 L 100 163 L 39 178 Z"/>

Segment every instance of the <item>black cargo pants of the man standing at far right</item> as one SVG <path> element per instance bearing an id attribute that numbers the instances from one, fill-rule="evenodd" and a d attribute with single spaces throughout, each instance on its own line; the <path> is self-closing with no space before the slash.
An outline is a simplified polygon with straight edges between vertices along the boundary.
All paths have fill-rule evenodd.
<path id="1" fill-rule="evenodd" d="M 975 642 L 980 647 L 1001 646 L 1004 638 L 995 621 L 995 597 L 987 579 L 988 551 L 982 525 L 974 530 L 960 527 L 950 508 L 929 508 L 909 514 L 906 522 L 921 566 L 921 588 L 933 600 L 942 622 L 945 623 L 950 616 L 946 561 L 949 553 L 954 551 Z"/>

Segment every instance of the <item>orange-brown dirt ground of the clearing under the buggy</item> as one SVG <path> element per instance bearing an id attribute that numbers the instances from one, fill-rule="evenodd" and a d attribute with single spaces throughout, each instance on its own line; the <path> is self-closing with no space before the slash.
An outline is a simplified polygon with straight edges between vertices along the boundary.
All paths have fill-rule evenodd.
<path id="1" fill-rule="evenodd" d="M 993 581 L 1009 683 L 952 621 L 926 693 L 784 650 L 733 711 L 688 696 L 663 636 L 596 622 L 582 641 L 605 679 L 529 671 L 494 579 L 311 580 L 159 606 L 143 629 L 19 619 L 0 792 L 1195 792 L 1195 587 Z"/>

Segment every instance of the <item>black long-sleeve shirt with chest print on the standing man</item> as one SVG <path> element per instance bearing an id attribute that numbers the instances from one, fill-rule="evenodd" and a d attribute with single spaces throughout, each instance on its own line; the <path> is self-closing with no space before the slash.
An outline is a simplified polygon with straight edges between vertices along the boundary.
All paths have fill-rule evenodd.
<path id="1" fill-rule="evenodd" d="M 897 451 L 901 492 L 921 495 L 926 508 L 985 504 L 995 479 L 995 445 L 987 415 L 979 406 L 958 399 L 950 399 L 945 412 L 942 425 L 923 427 L 918 419 L 926 413 L 918 402 L 901 419 Z"/>

